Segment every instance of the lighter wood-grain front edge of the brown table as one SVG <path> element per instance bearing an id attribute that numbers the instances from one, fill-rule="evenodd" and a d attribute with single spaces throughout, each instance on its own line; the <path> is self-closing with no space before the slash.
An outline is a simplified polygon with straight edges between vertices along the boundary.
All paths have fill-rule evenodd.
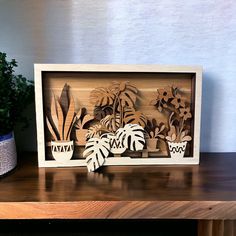
<path id="1" fill-rule="evenodd" d="M 0 202 L 0 219 L 236 219 L 236 201 Z"/>

